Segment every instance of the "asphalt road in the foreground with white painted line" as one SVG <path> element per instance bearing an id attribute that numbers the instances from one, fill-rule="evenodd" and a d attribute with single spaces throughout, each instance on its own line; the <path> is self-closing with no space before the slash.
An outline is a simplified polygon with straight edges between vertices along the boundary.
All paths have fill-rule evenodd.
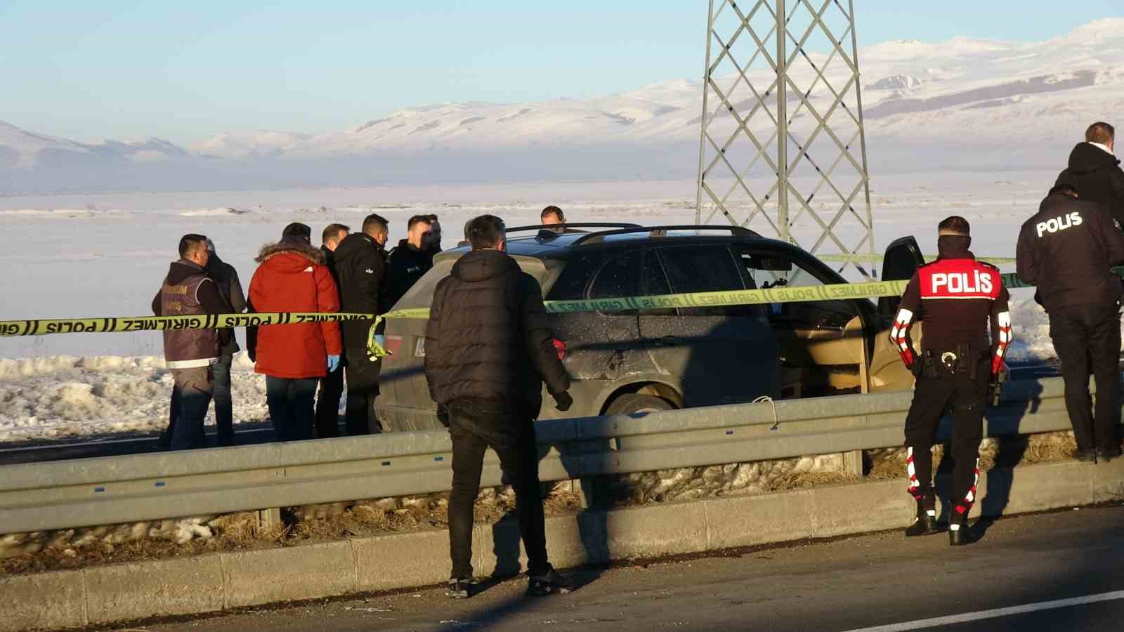
<path id="1" fill-rule="evenodd" d="M 882 533 L 726 557 L 582 569 L 574 572 L 578 590 L 542 598 L 525 597 L 525 580 L 511 579 L 481 586 L 468 601 L 453 602 L 441 588 L 426 588 L 119 629 L 1121 629 L 1124 507 L 1005 518 L 982 531 L 980 542 L 957 549 L 944 534 L 905 540 L 899 533 Z M 1082 599 L 1098 595 L 1095 598 L 1103 601 Z M 1013 610 L 987 612 L 997 608 Z M 925 621 L 934 617 L 952 619 Z"/>

